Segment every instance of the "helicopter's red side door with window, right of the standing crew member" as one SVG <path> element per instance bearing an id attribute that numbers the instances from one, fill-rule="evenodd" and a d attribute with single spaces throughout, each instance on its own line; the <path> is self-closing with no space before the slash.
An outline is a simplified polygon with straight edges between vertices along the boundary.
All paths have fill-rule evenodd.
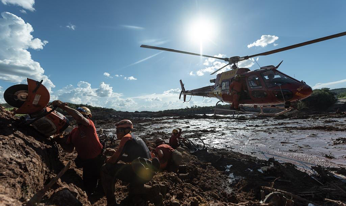
<path id="1" fill-rule="evenodd" d="M 257 74 L 249 75 L 246 78 L 249 95 L 255 104 L 265 103 L 268 98 L 271 99 L 262 78 Z"/>

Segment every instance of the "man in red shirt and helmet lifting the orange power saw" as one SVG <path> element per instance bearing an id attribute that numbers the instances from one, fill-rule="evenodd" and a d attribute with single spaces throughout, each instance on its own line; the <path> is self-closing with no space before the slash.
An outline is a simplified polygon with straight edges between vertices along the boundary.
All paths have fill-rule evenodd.
<path id="1" fill-rule="evenodd" d="M 106 158 L 103 157 L 104 146 L 100 143 L 94 123 L 90 120 L 91 111 L 88 107 L 78 107 L 76 110 L 59 100 L 52 102 L 69 113 L 77 122 L 69 135 L 61 138 L 56 135 L 54 140 L 61 145 L 64 151 L 72 153 L 76 149 L 78 156 L 75 159 L 77 168 L 83 168 L 83 183 L 88 195 L 94 193 L 100 179 L 100 169 Z M 60 137 L 60 138 L 59 138 Z"/>

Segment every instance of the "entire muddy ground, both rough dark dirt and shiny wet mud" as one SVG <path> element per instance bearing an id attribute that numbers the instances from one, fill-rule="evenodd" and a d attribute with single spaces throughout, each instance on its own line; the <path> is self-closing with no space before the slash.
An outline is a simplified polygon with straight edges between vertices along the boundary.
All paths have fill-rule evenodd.
<path id="1" fill-rule="evenodd" d="M 346 180 L 343 179 L 346 170 L 343 167 L 345 160 L 342 159 L 345 158 L 346 115 L 343 113 L 291 113 L 253 120 L 246 120 L 245 115 L 233 118 L 209 115 L 150 117 L 138 113 L 93 114 L 92 120 L 97 130 L 103 129 L 100 140 L 106 141 L 107 147 L 117 147 L 118 141 L 111 143 L 114 123 L 123 118 L 134 122 L 134 133 L 143 138 L 148 146 L 157 137 L 168 141 L 169 132 L 176 127 L 183 129 L 183 137 L 197 136 L 206 143 L 207 149 L 193 154 L 183 153 L 187 169 L 182 172 L 188 174 L 185 178 L 180 179 L 173 172 L 159 172 L 148 182 L 152 186 L 161 185 L 163 205 L 310 203 L 332 206 L 346 202 Z M 332 137 L 322 145 L 318 140 L 327 138 L 327 134 Z M 307 137 L 309 135 L 311 137 Z M 298 139 L 309 141 L 311 149 L 302 146 L 305 143 Z M 330 152 L 315 152 L 323 147 L 327 147 L 325 150 Z M 84 192 L 82 169 L 76 168 L 73 162 L 76 152 L 63 152 L 55 142 L 30 126 L 19 125 L 18 120 L 2 108 L 0 148 L 0 205 L 27 203 L 70 160 L 70 169 L 47 191 L 39 205 L 106 205 L 101 187 L 89 197 Z M 297 151 L 289 151 L 292 148 Z M 308 156 L 316 158 L 302 160 L 301 154 L 307 154 L 310 150 L 313 151 Z M 285 162 L 288 158 L 282 157 L 287 157 L 289 152 L 299 155 L 289 155 L 290 161 Z M 146 196 L 129 196 L 127 186 L 125 182 L 116 183 L 118 204 L 153 205 Z M 266 201 L 271 203 L 260 202 L 273 191 L 280 193 L 267 198 Z"/>

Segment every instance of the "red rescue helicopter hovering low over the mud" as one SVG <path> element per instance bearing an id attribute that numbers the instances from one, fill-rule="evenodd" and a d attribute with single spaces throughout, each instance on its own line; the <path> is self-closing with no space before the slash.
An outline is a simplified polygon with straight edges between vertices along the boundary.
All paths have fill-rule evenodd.
<path id="1" fill-rule="evenodd" d="M 250 55 L 250 56 L 233 56 L 230 58 L 221 58 L 221 57 L 215 57 L 215 56 L 209 56 L 209 55 L 203 55 L 203 54 L 197 54 L 197 53 L 191 53 L 187 51 L 180 51 L 175 49 L 169 49 L 169 48 L 163 48 L 163 47 L 155 47 L 155 46 L 149 46 L 149 45 L 141 45 L 142 48 L 149 48 L 149 49 L 158 49 L 163 51 L 172 51 L 176 53 L 182 53 L 182 54 L 190 54 L 195 56 L 203 56 L 203 57 L 209 57 L 209 58 L 215 58 L 224 60 L 225 62 L 228 62 L 225 66 L 217 69 L 212 74 L 217 73 L 221 69 L 225 68 L 226 66 L 230 66 L 230 70 L 226 72 L 221 72 L 217 74 L 216 78 L 210 79 L 210 83 L 214 83 L 214 85 L 205 86 L 193 90 L 185 90 L 184 84 L 182 80 L 180 79 L 180 85 L 181 85 L 181 92 L 179 95 L 179 99 L 181 99 L 181 95 L 183 95 L 184 102 L 186 102 L 186 95 L 191 96 L 203 96 L 203 97 L 215 97 L 219 99 L 219 101 L 216 103 L 215 107 L 219 102 L 226 102 L 226 103 L 232 103 L 233 102 L 233 96 L 231 96 L 231 93 L 229 91 L 229 86 L 233 81 L 235 81 L 235 75 L 240 75 L 240 81 L 245 86 L 245 90 L 241 92 L 240 98 L 239 98 L 239 105 L 253 105 L 254 108 L 257 108 L 257 106 L 260 106 L 261 112 L 251 112 L 251 111 L 245 111 L 243 109 L 242 112 L 245 113 L 252 113 L 253 115 L 280 115 L 286 112 L 291 111 L 294 109 L 293 104 L 294 102 L 306 99 L 312 94 L 312 88 L 307 85 L 304 81 L 299 81 L 289 75 L 286 75 L 278 70 L 279 66 L 281 65 L 282 61 L 277 65 L 269 65 L 260 67 L 260 69 L 256 69 L 254 71 L 250 71 L 248 68 L 238 68 L 238 62 L 253 58 L 256 56 L 265 56 L 270 55 L 274 53 L 278 53 L 281 51 L 317 43 L 320 41 L 325 41 L 328 39 L 336 38 L 345 36 L 346 32 L 342 32 L 339 34 L 334 34 L 310 41 L 306 41 L 299 44 L 294 44 L 287 47 L 282 47 L 279 49 L 274 49 L 271 51 L 266 51 L 260 54 Z M 232 66 L 231 66 L 232 65 Z M 284 104 L 284 106 L 275 106 L 277 104 Z M 275 107 L 277 109 L 282 109 L 283 111 L 278 113 L 265 113 L 263 111 L 263 108 L 265 107 Z M 219 111 L 233 111 L 235 110 L 225 110 L 225 109 L 216 109 Z"/>

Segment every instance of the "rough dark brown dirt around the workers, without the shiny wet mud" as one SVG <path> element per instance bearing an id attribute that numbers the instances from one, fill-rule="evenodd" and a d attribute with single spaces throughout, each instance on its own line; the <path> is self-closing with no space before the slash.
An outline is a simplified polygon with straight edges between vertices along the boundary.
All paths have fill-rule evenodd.
<path id="1" fill-rule="evenodd" d="M 97 129 L 112 128 L 121 117 L 95 115 Z M 186 118 L 186 117 L 177 117 Z M 200 118 L 190 116 L 189 118 Z M 134 118 L 134 122 L 152 122 Z M 167 141 L 168 134 L 146 130 L 142 138 L 148 146 L 157 137 Z M 136 131 L 134 131 L 135 133 Z M 100 137 L 108 147 L 118 142 Z M 42 189 L 76 153 L 65 153 L 53 141 L 43 137 L 29 126 L 20 125 L 11 113 L 0 108 L 0 205 L 26 203 Z M 203 150 L 183 153 L 187 165 L 186 176 L 179 178 L 173 172 L 159 172 L 148 185 L 160 185 L 163 205 L 337 205 L 332 200 L 346 201 L 345 182 L 333 173 L 345 175 L 342 168 L 313 168 L 316 174 L 307 174 L 290 164 L 274 159 L 258 160 L 238 152 Z M 102 187 L 92 196 L 83 191 L 82 170 L 71 168 L 43 196 L 40 205 L 106 205 Z M 120 205 L 153 205 L 146 196 L 129 196 L 127 184 L 116 183 L 117 202 Z M 276 192 L 276 193 L 272 193 Z M 267 198 L 265 199 L 266 195 Z M 325 198 L 331 199 L 326 200 Z M 265 203 L 260 203 L 265 200 Z"/>

